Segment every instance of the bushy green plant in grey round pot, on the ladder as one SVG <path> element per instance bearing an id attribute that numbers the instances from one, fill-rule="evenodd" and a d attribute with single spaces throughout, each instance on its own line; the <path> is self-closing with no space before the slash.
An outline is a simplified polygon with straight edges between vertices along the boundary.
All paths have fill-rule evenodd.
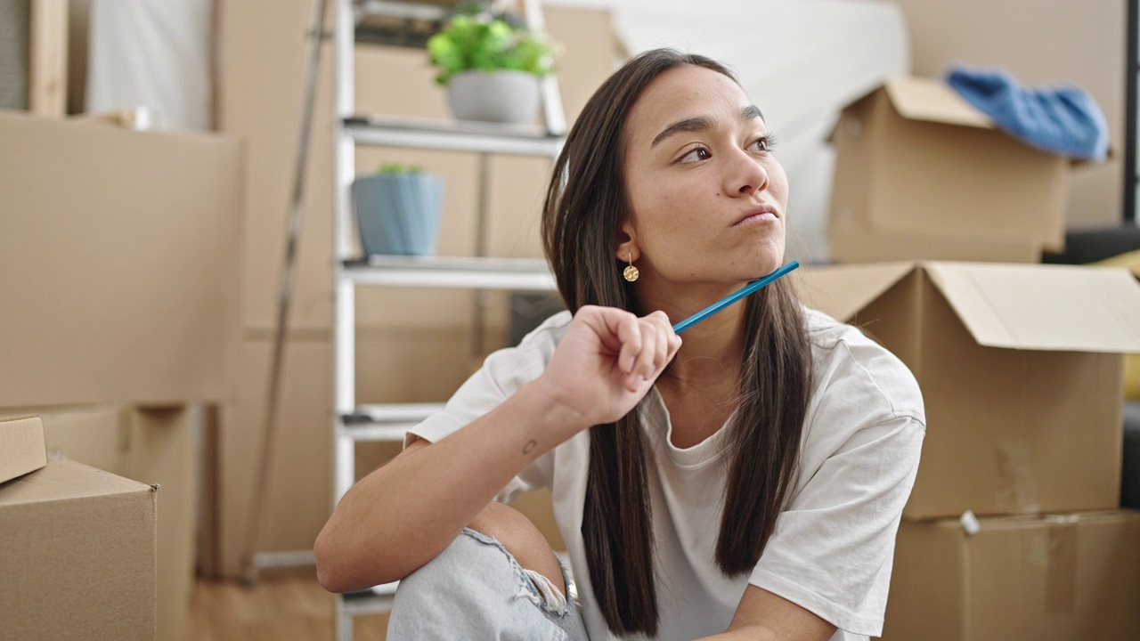
<path id="1" fill-rule="evenodd" d="M 556 47 L 511 14 L 477 11 L 448 21 L 427 52 L 455 117 L 527 123 L 538 114 L 538 80 L 554 70 Z"/>

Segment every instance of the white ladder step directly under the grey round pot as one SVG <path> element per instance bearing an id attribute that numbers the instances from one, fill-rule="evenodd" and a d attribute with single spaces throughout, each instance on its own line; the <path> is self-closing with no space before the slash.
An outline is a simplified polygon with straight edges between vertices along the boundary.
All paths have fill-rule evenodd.
<path id="1" fill-rule="evenodd" d="M 531 124 L 355 115 L 344 132 L 360 145 L 557 157 L 562 137 Z"/>

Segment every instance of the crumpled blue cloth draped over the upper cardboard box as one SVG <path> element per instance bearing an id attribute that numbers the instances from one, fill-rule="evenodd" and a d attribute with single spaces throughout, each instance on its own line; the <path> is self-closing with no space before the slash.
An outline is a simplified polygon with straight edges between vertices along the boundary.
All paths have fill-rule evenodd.
<path id="1" fill-rule="evenodd" d="M 953 66 L 946 81 L 999 128 L 1054 154 L 1100 162 L 1108 154 L 1108 125 L 1083 89 L 1026 89 L 1001 70 Z"/>

